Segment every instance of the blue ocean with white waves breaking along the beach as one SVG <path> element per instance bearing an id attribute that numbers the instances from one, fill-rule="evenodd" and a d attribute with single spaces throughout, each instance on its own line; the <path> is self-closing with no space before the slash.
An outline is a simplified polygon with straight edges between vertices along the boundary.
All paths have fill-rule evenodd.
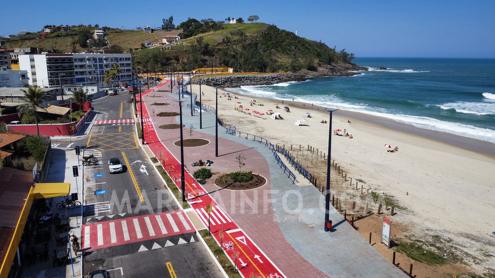
<path id="1" fill-rule="evenodd" d="M 350 77 L 243 86 L 233 92 L 385 117 L 495 143 L 495 59 L 355 58 Z M 379 69 L 386 67 L 386 70 Z"/>

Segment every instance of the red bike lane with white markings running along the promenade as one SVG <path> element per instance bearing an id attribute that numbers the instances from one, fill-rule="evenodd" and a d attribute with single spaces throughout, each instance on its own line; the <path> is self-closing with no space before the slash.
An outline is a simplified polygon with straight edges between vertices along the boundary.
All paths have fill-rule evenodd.
<path id="1" fill-rule="evenodd" d="M 153 92 L 155 89 L 168 85 L 169 83 L 170 81 L 166 81 L 157 87 L 145 91 L 142 95 Z M 136 98 L 141 101 L 139 95 L 136 95 Z M 146 107 L 146 103 L 144 104 L 143 117 L 148 118 L 148 109 Z M 137 106 L 139 112 L 138 116 L 141 117 L 141 105 Z M 170 176 L 170 179 L 180 190 L 181 163 L 179 159 L 177 159 L 166 148 L 166 146 L 161 143 L 161 140 L 158 138 L 154 130 L 153 123 L 148 122 L 145 124 L 143 134 L 145 135 L 146 143 L 150 149 L 160 151 L 162 153 L 162 161 L 160 161 L 160 163 L 165 168 L 165 171 Z M 213 225 L 214 227 L 211 229 L 211 233 L 233 263 L 234 257 L 236 257 L 236 266 L 243 277 L 251 277 L 252 274 L 255 274 L 256 277 L 261 275 L 263 278 L 286 277 L 251 240 L 251 238 L 249 238 L 240 227 L 229 219 L 227 214 L 221 209 L 220 206 L 217 205 L 215 200 L 209 196 L 208 192 L 206 192 L 201 185 L 196 183 L 187 169 L 185 169 L 184 179 L 188 203 L 191 205 L 205 227 L 208 227 L 208 222 L 206 220 L 206 205 L 211 204 L 213 206 L 214 209 L 210 216 L 212 220 L 216 220 L 216 225 Z M 223 238 L 221 238 L 220 235 L 222 232 Z"/>

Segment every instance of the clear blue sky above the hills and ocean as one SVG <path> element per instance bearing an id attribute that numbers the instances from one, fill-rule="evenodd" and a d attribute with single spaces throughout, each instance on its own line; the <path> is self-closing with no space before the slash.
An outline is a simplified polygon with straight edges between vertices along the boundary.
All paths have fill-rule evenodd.
<path id="1" fill-rule="evenodd" d="M 127 29 L 256 14 L 310 40 L 356 57 L 495 58 L 495 1 L 33 1 L 4 5 L 0 34 L 46 24 L 99 24 Z M 72 1 L 71 1 L 72 2 Z M 31 12 L 32 11 L 32 12 Z"/>

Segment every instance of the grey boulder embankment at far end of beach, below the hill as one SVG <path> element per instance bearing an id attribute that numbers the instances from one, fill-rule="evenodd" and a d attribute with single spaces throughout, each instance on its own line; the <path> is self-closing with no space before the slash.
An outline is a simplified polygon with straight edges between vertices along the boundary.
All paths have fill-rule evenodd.
<path id="1" fill-rule="evenodd" d="M 306 79 L 294 74 L 267 74 L 267 75 L 230 75 L 215 78 L 201 79 L 201 85 L 215 88 L 238 88 L 241 86 L 273 85 L 289 81 L 305 81 Z M 192 81 L 199 84 L 199 79 Z"/>

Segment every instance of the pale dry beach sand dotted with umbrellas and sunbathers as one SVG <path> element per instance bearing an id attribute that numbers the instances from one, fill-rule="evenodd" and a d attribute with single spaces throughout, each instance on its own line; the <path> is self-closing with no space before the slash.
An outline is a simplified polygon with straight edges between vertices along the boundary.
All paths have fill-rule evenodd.
<path id="1" fill-rule="evenodd" d="M 193 85 L 192 90 L 199 93 L 199 86 Z M 215 89 L 203 85 L 201 91 L 203 103 L 214 106 Z M 218 92 L 228 93 L 220 89 Z M 320 123 L 329 121 L 328 112 L 316 110 L 316 106 L 308 110 L 291 106 L 290 101 L 280 102 L 281 107 L 291 107 L 292 112 L 287 113 L 275 109 L 273 99 L 238 97 L 218 98 L 219 117 L 237 130 L 274 144 L 309 144 L 328 153 L 329 124 Z M 264 106 L 249 106 L 253 98 Z M 271 109 L 281 113 L 284 120 L 240 113 L 234 109 L 239 105 L 237 101 L 249 112 L 266 114 Z M 312 118 L 305 118 L 307 112 Z M 296 126 L 298 119 L 308 120 L 308 126 Z M 347 123 L 348 120 L 355 124 Z M 362 179 L 365 188 L 394 196 L 397 204 L 407 208 L 396 209 L 393 221 L 408 225 L 416 236 L 450 237 L 463 251 L 481 258 L 480 265 L 475 267 L 495 268 L 493 260 L 482 255 L 495 252 L 494 155 L 340 116 L 339 112 L 334 113 L 333 129 L 346 129 L 353 137 L 332 136 L 332 159 L 344 167 L 347 176 Z M 399 151 L 387 152 L 385 144 L 397 146 Z"/>

